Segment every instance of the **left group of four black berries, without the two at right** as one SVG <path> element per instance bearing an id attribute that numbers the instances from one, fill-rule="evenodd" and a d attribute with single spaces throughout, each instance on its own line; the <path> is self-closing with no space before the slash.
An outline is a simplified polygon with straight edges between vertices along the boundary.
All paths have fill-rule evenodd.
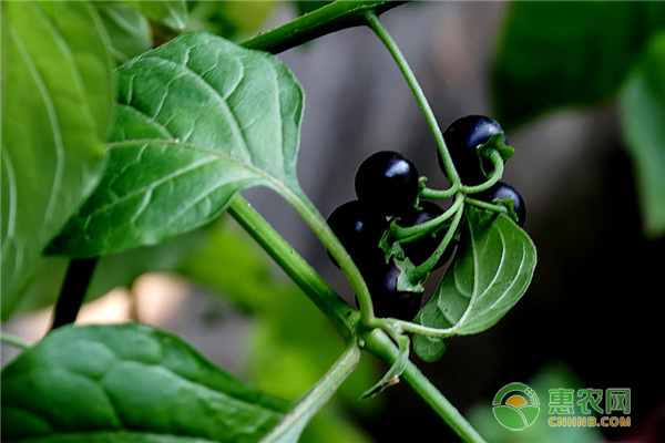
<path id="1" fill-rule="evenodd" d="M 328 217 L 328 225 L 345 246 L 362 274 L 378 317 L 412 320 L 420 310 L 422 293 L 400 291 L 400 270 L 386 262 L 379 240 L 392 217 L 408 227 L 432 219 L 441 208 L 427 203 L 415 207 L 419 192 L 418 171 L 402 155 L 381 151 L 367 157 L 356 173 L 358 199 L 339 206 Z M 405 245 L 405 253 L 417 264 L 437 248 L 434 238 L 423 238 Z"/>

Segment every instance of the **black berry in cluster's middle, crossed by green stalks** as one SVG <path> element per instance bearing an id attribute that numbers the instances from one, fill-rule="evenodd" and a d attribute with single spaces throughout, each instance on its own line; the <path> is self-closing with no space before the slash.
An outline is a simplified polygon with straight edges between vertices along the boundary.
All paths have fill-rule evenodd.
<path id="1" fill-rule="evenodd" d="M 399 225 L 402 227 L 421 225 L 443 214 L 443 209 L 441 209 L 439 205 L 432 202 L 420 202 L 420 207 L 421 209 L 413 208 L 412 210 L 403 215 L 399 220 Z M 413 265 L 418 266 L 421 265 L 424 260 L 427 260 L 434 253 L 434 250 L 437 250 L 437 247 L 441 243 L 441 239 L 444 235 L 446 228 L 442 228 L 438 233 L 429 234 L 415 241 L 405 243 L 401 246 L 405 250 L 406 256 L 409 257 Z M 439 261 L 437 261 L 437 265 L 433 269 L 438 269 L 441 266 L 443 266 L 446 261 L 448 261 L 448 259 L 450 259 L 450 257 L 452 256 L 453 249 L 454 245 L 449 244 L 446 248 L 446 251 L 443 253 L 441 258 L 439 258 Z"/>

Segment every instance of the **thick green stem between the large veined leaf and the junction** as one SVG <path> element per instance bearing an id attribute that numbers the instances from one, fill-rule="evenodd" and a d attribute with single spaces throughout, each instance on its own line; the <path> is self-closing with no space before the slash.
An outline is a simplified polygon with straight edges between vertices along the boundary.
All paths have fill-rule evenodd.
<path id="1" fill-rule="evenodd" d="M 350 315 L 351 308 L 247 200 L 236 196 L 228 213 L 332 321 L 345 339 L 354 336 L 354 319 L 357 316 Z"/>

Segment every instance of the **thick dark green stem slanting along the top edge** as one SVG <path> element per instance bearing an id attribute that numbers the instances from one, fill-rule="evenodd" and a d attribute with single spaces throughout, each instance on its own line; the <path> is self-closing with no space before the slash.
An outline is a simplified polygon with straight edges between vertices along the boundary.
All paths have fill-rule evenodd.
<path id="1" fill-rule="evenodd" d="M 276 54 L 331 32 L 366 24 L 368 11 L 380 14 L 402 3 L 406 2 L 336 1 L 241 44 Z"/>

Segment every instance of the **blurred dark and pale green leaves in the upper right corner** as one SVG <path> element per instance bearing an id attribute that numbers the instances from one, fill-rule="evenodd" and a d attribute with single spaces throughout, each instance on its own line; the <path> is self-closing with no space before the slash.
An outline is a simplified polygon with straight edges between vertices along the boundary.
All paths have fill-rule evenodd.
<path id="1" fill-rule="evenodd" d="M 655 49 L 664 30 L 663 2 L 513 2 L 492 72 L 497 117 L 507 127 L 621 94 L 643 230 L 651 238 L 665 235 L 665 52 Z M 648 83 L 643 94 L 640 76 Z"/>

